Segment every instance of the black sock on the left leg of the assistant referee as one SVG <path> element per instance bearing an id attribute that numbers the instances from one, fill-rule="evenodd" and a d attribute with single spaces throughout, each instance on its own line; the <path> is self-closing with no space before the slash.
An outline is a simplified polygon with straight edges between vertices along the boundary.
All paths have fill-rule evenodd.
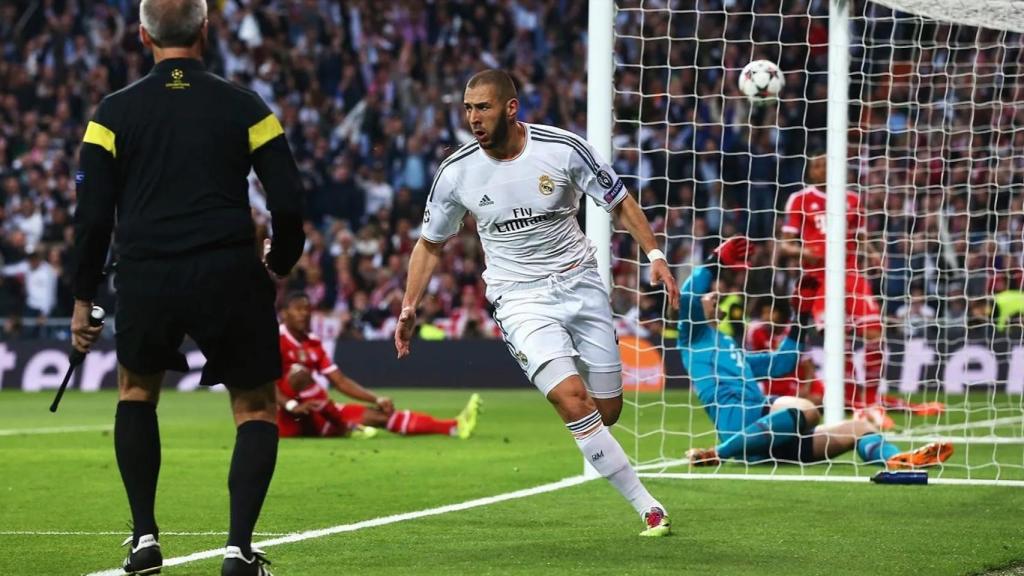
<path id="1" fill-rule="evenodd" d="M 127 400 L 118 403 L 114 452 L 131 506 L 132 545 L 145 534 L 159 538 L 154 517 L 160 476 L 160 427 L 155 404 Z"/>

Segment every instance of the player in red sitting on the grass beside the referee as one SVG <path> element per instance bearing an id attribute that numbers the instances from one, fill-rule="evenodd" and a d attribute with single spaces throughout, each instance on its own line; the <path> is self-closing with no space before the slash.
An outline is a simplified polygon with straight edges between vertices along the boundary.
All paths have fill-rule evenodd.
<path id="1" fill-rule="evenodd" d="M 353 430 L 366 437 L 375 427 L 401 436 L 437 434 L 466 439 L 473 434 L 480 406 L 478 395 L 472 395 L 466 408 L 453 419 L 395 410 L 391 399 L 377 396 L 342 374 L 319 339 L 309 333 L 310 316 L 309 298 L 304 293 L 288 295 L 281 312 L 285 374 L 278 380 L 278 426 L 282 438 L 349 436 Z M 333 402 L 313 380 L 314 372 L 324 375 L 341 394 L 372 406 Z"/>

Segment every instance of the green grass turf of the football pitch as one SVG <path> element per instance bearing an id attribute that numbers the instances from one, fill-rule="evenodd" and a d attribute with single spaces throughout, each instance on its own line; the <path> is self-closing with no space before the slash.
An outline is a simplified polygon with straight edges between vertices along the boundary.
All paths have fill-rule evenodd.
<path id="1" fill-rule="evenodd" d="M 455 414 L 468 394 L 392 390 L 400 408 Z M 383 434 L 359 442 L 284 441 L 257 526 L 291 533 L 528 488 L 580 472 L 564 426 L 534 390 L 486 392 L 467 442 Z M 684 401 L 683 394 L 674 400 Z M 653 398 L 651 398 L 653 399 Z M 0 428 L 112 424 L 113 394 L 0 394 Z M 673 427 L 707 430 L 672 409 Z M 226 531 L 233 428 L 227 400 L 166 393 L 157 518 L 165 532 Z M 650 427 L 660 408 L 624 422 Z M 632 441 L 622 431 L 617 436 Z M 645 442 L 645 441 L 641 441 Z M 685 442 L 670 437 L 668 444 Z M 681 444 L 681 447 L 682 447 Z M 1020 463 L 1021 447 L 1009 449 Z M 653 449 L 653 447 L 651 447 Z M 673 449 L 674 450 L 674 449 Z M 986 459 L 991 448 L 984 447 Z M 979 451 L 980 452 L 980 451 Z M 974 452 L 972 452 L 974 454 Z M 656 456 L 649 454 L 648 456 Z M 672 454 L 676 456 L 677 454 Z M 954 456 L 963 457 L 963 452 Z M 1014 459 L 1016 458 L 1016 459 Z M 961 460 L 963 463 L 963 460 Z M 726 471 L 746 467 L 728 464 Z M 751 471 L 770 471 L 754 466 Z M 796 466 L 779 468 L 799 471 Z M 849 474 L 852 466 L 843 468 Z M 685 470 L 674 470 L 685 471 Z M 823 468 L 808 468 L 821 474 Z M 868 475 L 873 468 L 864 468 Z M 637 536 L 641 523 L 603 481 L 471 510 L 267 549 L 276 573 L 322 574 L 971 574 L 1024 559 L 1024 490 L 739 481 L 647 481 L 676 534 Z M 0 437 L 0 532 L 125 531 L 129 522 L 110 433 Z M 257 537 L 267 539 L 268 537 Z M 0 574 L 82 574 L 118 566 L 115 535 L 0 534 Z M 222 546 L 224 536 L 161 538 L 167 558 Z M 165 569 L 212 574 L 219 560 Z"/>

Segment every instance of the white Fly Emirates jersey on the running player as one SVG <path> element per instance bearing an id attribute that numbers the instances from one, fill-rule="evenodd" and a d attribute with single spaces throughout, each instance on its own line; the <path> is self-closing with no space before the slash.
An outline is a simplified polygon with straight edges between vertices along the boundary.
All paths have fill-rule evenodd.
<path id="1" fill-rule="evenodd" d="M 594 258 L 577 212 L 583 194 L 610 211 L 626 198 L 622 180 L 587 140 L 525 124 L 526 146 L 512 160 L 495 160 L 475 140 L 437 168 L 421 235 L 443 242 L 459 232 L 466 211 L 476 217 L 486 257 L 488 292 L 532 282 Z"/>

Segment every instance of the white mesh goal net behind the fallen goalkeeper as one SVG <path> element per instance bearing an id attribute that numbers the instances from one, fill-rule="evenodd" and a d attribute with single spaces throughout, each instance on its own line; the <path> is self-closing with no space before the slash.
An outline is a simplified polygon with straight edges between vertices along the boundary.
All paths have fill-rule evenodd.
<path id="1" fill-rule="evenodd" d="M 881 326 L 873 335 L 862 324 L 844 330 L 852 360 L 836 389 L 863 409 L 848 409 L 848 418 L 887 428 L 901 449 L 952 443 L 932 479 L 1024 481 L 1024 10 L 1014 4 L 849 6 L 847 188 L 863 231 L 858 287 L 877 302 Z M 753 268 L 721 279 L 714 327 L 746 349 L 778 344 L 806 265 L 786 255 L 782 239 L 792 232 L 787 208 L 796 209 L 787 201 L 826 151 L 828 18 L 821 0 L 620 0 L 614 8 L 614 167 L 637 191 L 680 284 L 723 239 L 755 242 Z M 759 58 L 784 74 L 773 104 L 753 105 L 737 87 L 740 69 Z M 856 452 L 688 469 L 686 450 L 719 438 L 681 365 L 676 313 L 649 286 L 639 248 L 612 227 L 628 386 L 616 434 L 641 469 L 881 469 Z M 796 245 L 806 251 L 801 234 Z M 820 404 L 821 342 L 812 336 L 796 373 L 763 381 L 765 392 Z"/>

